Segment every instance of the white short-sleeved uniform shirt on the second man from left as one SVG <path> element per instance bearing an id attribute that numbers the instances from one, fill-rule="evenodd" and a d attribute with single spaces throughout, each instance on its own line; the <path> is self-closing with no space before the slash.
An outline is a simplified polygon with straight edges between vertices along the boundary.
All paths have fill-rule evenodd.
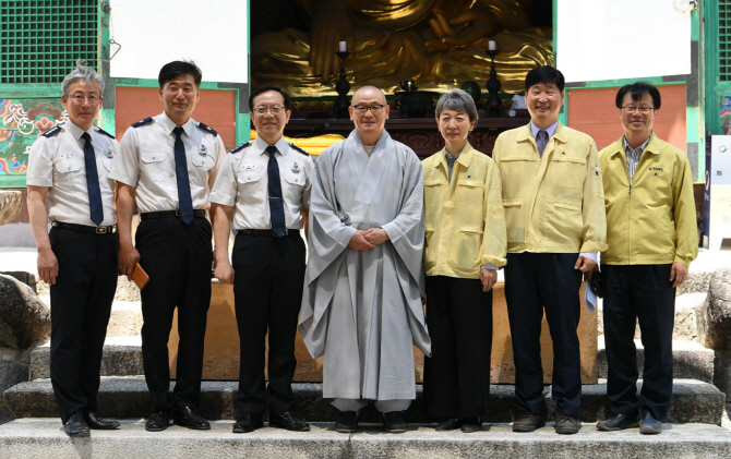
<path id="1" fill-rule="evenodd" d="M 177 210 L 175 142 L 177 124 L 165 112 L 152 121 L 127 130 L 109 177 L 136 188 L 137 209 Z M 219 135 L 204 130 L 192 118 L 182 125 L 181 138 L 188 159 L 188 177 L 194 209 L 207 209 L 208 194 L 226 157 Z"/>

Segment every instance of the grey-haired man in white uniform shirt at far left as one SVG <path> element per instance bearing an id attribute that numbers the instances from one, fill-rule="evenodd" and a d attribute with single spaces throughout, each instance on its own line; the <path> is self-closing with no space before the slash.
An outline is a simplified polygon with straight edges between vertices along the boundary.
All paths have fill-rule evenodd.
<path id="1" fill-rule="evenodd" d="M 94 125 L 104 78 L 83 61 L 61 83 L 69 121 L 38 137 L 28 156 L 28 216 L 38 275 L 51 293 L 50 375 L 70 437 L 118 428 L 96 415 L 101 351 L 117 290 L 117 141 Z M 48 231 L 48 222 L 51 230 Z"/>

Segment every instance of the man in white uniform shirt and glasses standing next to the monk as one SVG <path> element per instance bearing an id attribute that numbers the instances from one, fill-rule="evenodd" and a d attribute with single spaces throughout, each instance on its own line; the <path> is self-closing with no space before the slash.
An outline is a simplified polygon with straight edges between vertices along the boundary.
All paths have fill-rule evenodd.
<path id="1" fill-rule="evenodd" d="M 233 283 L 239 326 L 239 419 L 233 433 L 262 427 L 269 394 L 269 426 L 309 431 L 292 415 L 291 383 L 297 366 L 295 337 L 302 303 L 304 241 L 313 164 L 310 155 L 285 142 L 291 111 L 289 95 L 264 86 L 249 97 L 256 140 L 224 159 L 211 202 L 216 203 L 216 277 Z M 233 216 L 233 266 L 228 259 Z M 269 384 L 264 384 L 264 341 L 268 330 Z"/>

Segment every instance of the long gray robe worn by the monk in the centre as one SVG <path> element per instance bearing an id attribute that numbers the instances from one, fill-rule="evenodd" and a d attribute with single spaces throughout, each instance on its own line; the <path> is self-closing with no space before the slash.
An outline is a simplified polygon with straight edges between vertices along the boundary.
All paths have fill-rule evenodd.
<path id="1" fill-rule="evenodd" d="M 348 247 L 356 230 L 379 227 L 388 241 Z M 423 172 L 410 148 L 384 131 L 369 157 L 352 131 L 320 155 L 299 331 L 313 358 L 325 355 L 324 398 L 416 398 L 412 345 L 431 354 L 423 243 Z"/>

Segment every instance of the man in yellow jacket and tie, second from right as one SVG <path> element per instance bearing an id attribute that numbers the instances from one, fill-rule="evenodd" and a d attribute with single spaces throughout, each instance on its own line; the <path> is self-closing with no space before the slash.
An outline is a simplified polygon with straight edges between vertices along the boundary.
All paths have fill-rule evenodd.
<path id="1" fill-rule="evenodd" d="M 507 227 L 505 299 L 518 402 L 513 432 L 546 425 L 540 357 L 543 311 L 553 339 L 555 431 L 575 434 L 582 402 L 578 335 L 582 273 L 607 249 L 604 195 L 594 140 L 559 122 L 563 74 L 526 75 L 530 123 L 498 137 L 492 158 L 503 181 Z"/>

